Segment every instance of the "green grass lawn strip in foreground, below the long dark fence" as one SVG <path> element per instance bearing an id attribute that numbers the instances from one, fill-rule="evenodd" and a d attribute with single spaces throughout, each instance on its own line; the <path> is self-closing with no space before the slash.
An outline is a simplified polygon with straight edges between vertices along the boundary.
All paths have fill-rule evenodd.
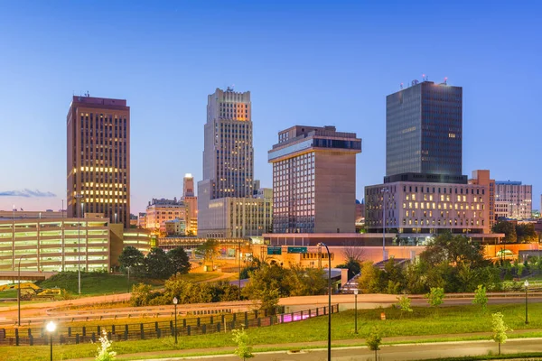
<path id="1" fill-rule="evenodd" d="M 386 312 L 386 320 L 380 319 L 380 312 L 382 311 Z M 511 338 L 542 337 L 542 331 L 540 330 L 542 329 L 542 303 L 532 303 L 529 305 L 530 323 L 528 325 L 525 325 L 525 309 L 519 304 L 491 305 L 489 311 L 485 314 L 475 306 L 442 307 L 438 310 L 414 308 L 414 312 L 407 315 L 401 315 L 400 310 L 391 308 L 359 310 L 359 334 L 354 334 L 354 311 L 349 310 L 332 316 L 332 339 L 349 340 L 345 341 L 341 346 L 363 345 L 363 338 L 366 338 L 375 327 L 380 330 L 385 344 L 387 343 L 386 338 L 408 336 L 419 336 L 421 338 L 416 340 L 388 340 L 388 343 L 482 339 L 485 337 L 479 334 L 469 334 L 472 332 L 490 332 L 491 313 L 498 311 L 504 315 L 505 323 L 511 329 L 531 330 L 528 333 L 509 335 Z M 280 349 L 282 344 L 287 343 L 324 341 L 327 339 L 326 326 L 327 317 L 320 317 L 268 328 L 248 329 L 248 335 L 257 350 Z M 257 347 L 258 345 L 269 344 L 274 346 Z M 218 353 L 220 350 L 213 350 L 213 348 L 233 346 L 235 345 L 231 340 L 230 333 L 183 337 L 180 338 L 177 346 L 173 344 L 172 338 L 114 343 L 114 349 L 119 355 L 174 350 L 176 348 L 205 348 L 209 350 L 208 353 Z M 1 347 L 0 349 L 5 356 L 5 361 L 47 360 L 49 357 L 48 347 Z M 95 345 L 55 346 L 56 356 L 54 359 L 89 357 L 94 356 L 95 352 Z"/>

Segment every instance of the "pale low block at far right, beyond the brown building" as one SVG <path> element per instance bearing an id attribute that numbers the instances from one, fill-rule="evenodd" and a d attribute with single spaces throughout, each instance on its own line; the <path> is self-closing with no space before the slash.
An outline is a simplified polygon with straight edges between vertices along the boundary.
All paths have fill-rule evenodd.
<path id="1" fill-rule="evenodd" d="M 499 218 L 528 219 L 533 211 L 533 186 L 520 181 L 495 182 L 495 213 Z"/>

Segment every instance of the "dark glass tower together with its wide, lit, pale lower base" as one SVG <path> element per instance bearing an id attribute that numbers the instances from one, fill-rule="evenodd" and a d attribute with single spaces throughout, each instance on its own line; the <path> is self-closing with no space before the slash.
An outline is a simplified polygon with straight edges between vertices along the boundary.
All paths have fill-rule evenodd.
<path id="1" fill-rule="evenodd" d="M 418 244 L 452 231 L 491 232 L 489 171 L 463 175 L 463 88 L 412 82 L 386 98 L 386 176 L 365 188 L 365 227 Z M 493 183 L 491 183 L 491 181 Z"/>

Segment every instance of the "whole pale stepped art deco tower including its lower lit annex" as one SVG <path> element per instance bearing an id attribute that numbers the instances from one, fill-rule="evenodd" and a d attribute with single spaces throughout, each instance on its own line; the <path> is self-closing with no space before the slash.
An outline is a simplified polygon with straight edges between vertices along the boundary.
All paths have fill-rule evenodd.
<path id="1" fill-rule="evenodd" d="M 255 198 L 252 131 L 250 92 L 217 88 L 208 97 L 198 236 L 261 236 L 270 229 L 272 199 Z"/>

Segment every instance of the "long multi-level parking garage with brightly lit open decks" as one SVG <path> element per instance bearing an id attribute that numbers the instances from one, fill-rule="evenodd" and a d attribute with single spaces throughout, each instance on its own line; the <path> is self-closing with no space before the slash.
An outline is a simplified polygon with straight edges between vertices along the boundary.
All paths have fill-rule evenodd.
<path id="1" fill-rule="evenodd" d="M 66 218 L 62 212 L 2 212 L 0 273 L 107 271 L 118 266 L 126 246 L 145 255 L 153 239 L 143 229 L 126 229 L 99 213 Z"/>

